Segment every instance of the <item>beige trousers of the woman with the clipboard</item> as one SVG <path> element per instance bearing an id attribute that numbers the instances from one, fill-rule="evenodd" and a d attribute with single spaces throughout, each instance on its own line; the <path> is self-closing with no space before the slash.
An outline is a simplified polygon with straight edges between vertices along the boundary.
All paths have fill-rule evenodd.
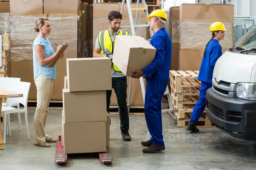
<path id="1" fill-rule="evenodd" d="M 34 117 L 35 144 L 41 144 L 50 139 L 45 133 L 48 107 L 52 95 L 53 79 L 47 79 L 42 74 L 35 78 L 37 88 L 37 106 Z"/>

